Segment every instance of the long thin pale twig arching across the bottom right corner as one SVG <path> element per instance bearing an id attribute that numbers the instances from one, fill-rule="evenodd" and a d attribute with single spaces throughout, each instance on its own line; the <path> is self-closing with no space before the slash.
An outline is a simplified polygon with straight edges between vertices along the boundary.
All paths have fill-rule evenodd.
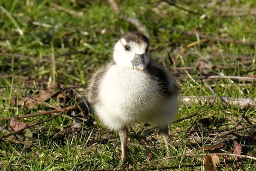
<path id="1" fill-rule="evenodd" d="M 252 156 L 248 156 L 248 155 L 230 154 L 230 153 L 183 154 L 183 155 L 175 155 L 175 156 L 165 157 L 165 158 L 158 159 L 158 160 L 149 161 L 149 162 L 140 164 L 140 166 L 147 165 L 149 163 L 154 163 L 156 161 L 161 161 L 161 160 L 166 160 L 166 159 L 173 159 L 173 158 L 177 158 L 177 157 L 200 157 L 200 156 L 207 156 L 207 155 L 220 155 L 220 156 L 226 156 L 227 155 L 227 156 L 236 156 L 236 157 L 256 160 L 256 157 L 252 157 Z"/>

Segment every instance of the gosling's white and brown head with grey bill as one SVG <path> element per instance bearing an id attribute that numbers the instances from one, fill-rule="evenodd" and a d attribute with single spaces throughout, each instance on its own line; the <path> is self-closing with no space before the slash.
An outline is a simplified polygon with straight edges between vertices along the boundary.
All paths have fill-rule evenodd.
<path id="1" fill-rule="evenodd" d="M 148 38 L 143 34 L 126 33 L 114 46 L 114 61 L 123 67 L 146 70 L 150 61 L 148 46 Z"/>

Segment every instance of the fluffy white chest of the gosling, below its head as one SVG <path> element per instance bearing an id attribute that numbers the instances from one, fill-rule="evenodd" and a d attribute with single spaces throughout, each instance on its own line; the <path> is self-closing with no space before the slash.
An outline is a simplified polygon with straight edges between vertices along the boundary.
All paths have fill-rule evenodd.
<path id="1" fill-rule="evenodd" d="M 140 122 L 160 105 L 157 82 L 140 70 L 114 65 L 103 77 L 99 90 L 100 105 L 104 108 L 99 115 L 124 122 Z"/>

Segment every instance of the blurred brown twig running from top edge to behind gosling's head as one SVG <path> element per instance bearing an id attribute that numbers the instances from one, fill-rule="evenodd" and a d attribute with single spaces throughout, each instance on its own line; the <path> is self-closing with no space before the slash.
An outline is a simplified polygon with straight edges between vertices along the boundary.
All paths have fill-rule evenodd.
<path id="1" fill-rule="evenodd" d="M 115 11 L 116 15 L 121 18 L 121 19 L 124 19 L 126 20 L 127 22 L 131 23 L 132 25 L 134 25 L 137 30 L 139 32 L 142 32 L 143 34 L 145 34 L 145 36 L 147 37 L 150 37 L 150 35 L 148 34 L 148 31 L 146 29 L 145 26 L 143 26 L 140 22 L 140 20 L 138 20 L 137 18 L 133 18 L 133 17 L 128 17 L 126 15 L 123 15 L 121 12 L 120 12 L 120 9 L 118 8 L 118 5 L 116 3 L 115 0 L 108 0 L 108 2 L 111 4 L 113 10 Z"/>

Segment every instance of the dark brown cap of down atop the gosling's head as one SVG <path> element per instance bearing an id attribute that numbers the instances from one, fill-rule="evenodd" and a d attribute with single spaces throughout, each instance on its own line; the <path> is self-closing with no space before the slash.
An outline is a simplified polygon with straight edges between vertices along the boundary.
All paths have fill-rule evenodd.
<path id="1" fill-rule="evenodd" d="M 126 42 L 135 42 L 138 45 L 142 45 L 143 43 L 146 43 L 148 45 L 148 38 L 141 33 L 138 32 L 129 32 L 122 36 L 122 38 L 125 39 Z M 147 46 L 148 49 L 148 46 Z"/>

